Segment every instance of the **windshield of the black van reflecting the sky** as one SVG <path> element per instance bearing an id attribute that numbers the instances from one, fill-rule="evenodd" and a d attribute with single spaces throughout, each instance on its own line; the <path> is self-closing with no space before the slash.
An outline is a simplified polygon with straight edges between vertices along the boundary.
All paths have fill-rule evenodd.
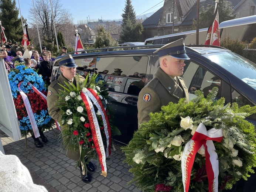
<path id="1" fill-rule="evenodd" d="M 256 64 L 252 61 L 231 52 L 205 54 L 204 56 L 256 89 Z"/>

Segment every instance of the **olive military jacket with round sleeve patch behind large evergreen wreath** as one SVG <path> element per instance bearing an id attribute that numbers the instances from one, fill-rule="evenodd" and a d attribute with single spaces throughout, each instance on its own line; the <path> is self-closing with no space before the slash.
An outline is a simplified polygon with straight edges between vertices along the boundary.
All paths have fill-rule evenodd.
<path id="1" fill-rule="evenodd" d="M 185 82 L 180 77 L 176 79 L 178 83 L 159 67 L 155 78 L 140 91 L 137 103 L 139 127 L 141 123 L 150 120 L 150 112 L 159 112 L 161 106 L 170 102 L 178 103 L 182 97 L 188 102 L 188 88 Z"/>

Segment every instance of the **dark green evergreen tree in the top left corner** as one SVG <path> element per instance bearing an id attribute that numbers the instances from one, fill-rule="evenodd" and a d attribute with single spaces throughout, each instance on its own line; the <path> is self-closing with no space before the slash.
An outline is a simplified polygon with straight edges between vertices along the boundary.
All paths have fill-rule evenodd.
<path id="1" fill-rule="evenodd" d="M 23 38 L 21 19 L 18 18 L 18 14 L 15 0 L 0 1 L 0 21 L 7 40 L 20 42 Z"/>

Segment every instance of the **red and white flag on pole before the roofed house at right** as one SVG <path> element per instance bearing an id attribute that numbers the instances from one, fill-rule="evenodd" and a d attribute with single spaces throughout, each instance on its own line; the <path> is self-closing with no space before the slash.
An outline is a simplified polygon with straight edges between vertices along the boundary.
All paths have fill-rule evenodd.
<path id="1" fill-rule="evenodd" d="M 218 7 L 215 10 L 214 16 L 215 16 L 214 22 L 208 28 L 208 31 L 207 31 L 205 45 L 220 46 L 220 42 L 219 42 L 219 12 L 218 12 Z"/>

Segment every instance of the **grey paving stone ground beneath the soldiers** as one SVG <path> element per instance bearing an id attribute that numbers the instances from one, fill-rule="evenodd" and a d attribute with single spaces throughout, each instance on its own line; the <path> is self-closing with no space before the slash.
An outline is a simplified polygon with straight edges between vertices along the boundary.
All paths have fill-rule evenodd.
<path id="1" fill-rule="evenodd" d="M 54 130 L 59 133 L 56 128 Z M 141 192 L 134 185 L 127 186 L 133 174 L 129 172 L 129 165 L 123 163 L 125 156 L 118 142 L 113 141 L 115 151 L 111 148 L 107 160 L 107 177 L 100 175 L 100 165 L 92 160 L 96 169 L 91 173 L 92 181 L 86 184 L 81 181 L 80 170 L 75 169 L 76 162 L 66 157 L 65 150 L 61 150 L 61 143 L 54 132 L 48 130 L 44 134 L 48 138 L 44 147 L 36 148 L 33 138 L 28 136 L 28 147 L 25 148 L 25 138 L 14 142 L 0 130 L 5 154 L 16 155 L 20 159 L 30 171 L 34 184 L 45 186 L 48 192 Z"/>

